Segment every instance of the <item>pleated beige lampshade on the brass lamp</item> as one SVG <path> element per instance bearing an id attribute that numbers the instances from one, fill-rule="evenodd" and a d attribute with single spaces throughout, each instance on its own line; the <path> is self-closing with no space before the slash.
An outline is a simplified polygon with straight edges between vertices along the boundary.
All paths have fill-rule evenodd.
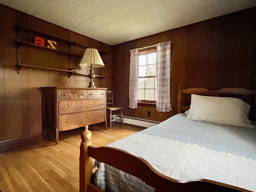
<path id="1" fill-rule="evenodd" d="M 84 52 L 84 56 L 80 61 L 80 66 L 86 67 L 104 67 L 104 63 L 100 57 L 100 54 L 97 49 L 94 48 L 87 48 Z"/>

